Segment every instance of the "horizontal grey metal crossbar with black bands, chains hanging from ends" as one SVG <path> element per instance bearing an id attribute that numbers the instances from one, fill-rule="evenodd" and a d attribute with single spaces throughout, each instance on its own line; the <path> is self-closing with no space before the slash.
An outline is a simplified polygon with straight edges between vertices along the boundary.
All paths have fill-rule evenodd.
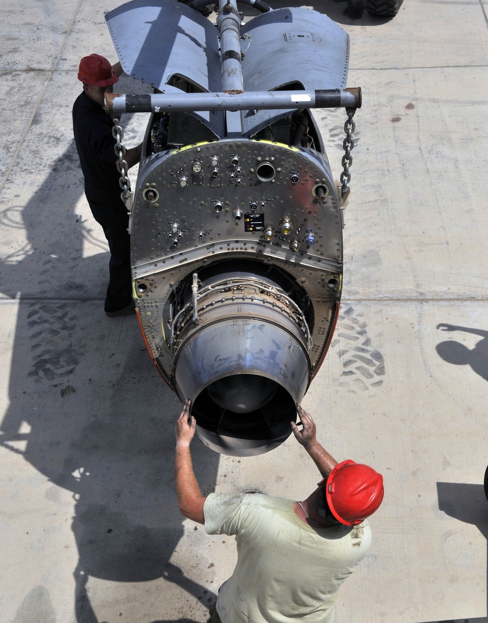
<path id="1" fill-rule="evenodd" d="M 283 108 L 361 108 L 361 87 L 316 91 L 262 91 L 230 93 L 153 93 L 146 95 L 105 94 L 110 115 L 163 110 L 274 110 Z"/>

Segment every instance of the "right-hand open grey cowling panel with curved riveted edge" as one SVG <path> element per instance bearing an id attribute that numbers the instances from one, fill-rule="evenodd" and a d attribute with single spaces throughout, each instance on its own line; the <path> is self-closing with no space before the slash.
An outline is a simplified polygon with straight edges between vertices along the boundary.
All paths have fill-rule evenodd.
<path id="1" fill-rule="evenodd" d="M 272 91 L 300 83 L 305 90 L 344 88 L 349 67 L 349 36 L 317 11 L 276 9 L 241 27 L 251 40 L 242 59 L 247 91 Z M 242 112 L 246 135 L 254 135 L 290 110 Z"/>

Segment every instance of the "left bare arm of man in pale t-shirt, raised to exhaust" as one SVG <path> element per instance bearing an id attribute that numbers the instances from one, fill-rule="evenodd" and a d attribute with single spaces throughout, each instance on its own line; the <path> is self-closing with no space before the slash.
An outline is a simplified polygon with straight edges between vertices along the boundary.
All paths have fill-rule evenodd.
<path id="1" fill-rule="evenodd" d="M 206 497 L 201 494 L 200 487 L 193 471 L 193 462 L 189 445 L 195 434 L 196 421 L 194 417 L 189 420 L 190 401 L 184 404 L 184 409 L 175 424 L 176 450 L 175 450 L 175 485 L 178 506 L 181 514 L 192 521 L 205 523 L 203 505 Z"/>

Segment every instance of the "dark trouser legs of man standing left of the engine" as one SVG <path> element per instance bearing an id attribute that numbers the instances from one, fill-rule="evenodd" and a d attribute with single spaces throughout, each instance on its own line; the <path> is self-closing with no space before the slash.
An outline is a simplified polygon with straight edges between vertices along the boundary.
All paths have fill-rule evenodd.
<path id="1" fill-rule="evenodd" d="M 105 298 L 105 312 L 117 312 L 132 301 L 130 274 L 129 215 L 122 199 L 99 195 L 85 189 L 93 218 L 103 228 L 110 249 L 110 282 Z"/>

